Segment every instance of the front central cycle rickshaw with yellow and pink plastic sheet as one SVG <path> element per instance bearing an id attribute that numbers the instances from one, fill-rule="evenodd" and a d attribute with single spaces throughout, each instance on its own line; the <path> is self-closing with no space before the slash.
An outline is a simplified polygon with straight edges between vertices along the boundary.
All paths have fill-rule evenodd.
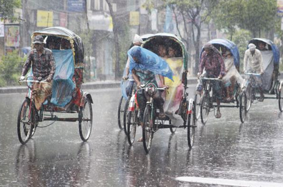
<path id="1" fill-rule="evenodd" d="M 189 148 L 192 148 L 195 139 L 195 112 L 193 107 L 193 99 L 188 98 L 187 89 L 187 51 L 182 40 L 173 34 L 157 33 L 150 35 L 141 45 L 156 54 L 158 45 L 173 47 L 175 57 L 165 59 L 173 71 L 173 81 L 165 77 L 165 85 L 169 86 L 167 91 L 163 92 L 165 102 L 163 105 L 166 114 L 165 119 L 160 119 L 159 111 L 155 106 L 154 95 L 157 90 L 165 90 L 166 88 L 158 88 L 158 85 L 144 85 L 147 103 L 144 110 L 142 137 L 143 147 L 146 153 L 149 153 L 154 133 L 163 128 L 169 128 L 171 133 L 175 133 L 177 128 L 187 128 L 187 141 Z M 156 76 L 158 77 L 158 76 Z M 136 128 L 139 125 L 138 115 L 139 108 L 134 102 L 134 96 L 129 101 L 128 109 L 132 111 L 127 115 L 127 136 L 129 144 L 134 142 Z"/>

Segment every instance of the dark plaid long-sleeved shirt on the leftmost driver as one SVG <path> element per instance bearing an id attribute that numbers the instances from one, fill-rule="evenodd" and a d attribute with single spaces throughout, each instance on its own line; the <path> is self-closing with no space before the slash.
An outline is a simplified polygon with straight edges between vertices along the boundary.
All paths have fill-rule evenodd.
<path id="1" fill-rule="evenodd" d="M 23 66 L 22 76 L 25 76 L 32 66 L 33 76 L 42 77 L 42 79 L 53 79 L 55 73 L 55 61 L 52 51 L 43 48 L 42 54 L 38 55 L 36 49 L 30 51 L 28 59 Z"/>

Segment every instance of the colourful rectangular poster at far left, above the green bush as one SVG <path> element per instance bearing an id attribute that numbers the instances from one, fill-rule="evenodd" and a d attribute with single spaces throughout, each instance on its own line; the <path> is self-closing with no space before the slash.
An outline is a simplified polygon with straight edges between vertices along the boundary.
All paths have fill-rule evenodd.
<path id="1" fill-rule="evenodd" d="M 20 47 L 20 26 L 5 26 L 5 47 Z"/>

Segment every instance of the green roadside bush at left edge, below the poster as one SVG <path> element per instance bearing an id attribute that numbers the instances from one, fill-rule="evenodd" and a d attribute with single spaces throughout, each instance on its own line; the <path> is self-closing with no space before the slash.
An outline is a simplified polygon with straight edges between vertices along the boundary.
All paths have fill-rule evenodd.
<path id="1" fill-rule="evenodd" d="M 8 52 L 0 61 L 0 86 L 17 85 L 23 60 L 18 50 Z"/>

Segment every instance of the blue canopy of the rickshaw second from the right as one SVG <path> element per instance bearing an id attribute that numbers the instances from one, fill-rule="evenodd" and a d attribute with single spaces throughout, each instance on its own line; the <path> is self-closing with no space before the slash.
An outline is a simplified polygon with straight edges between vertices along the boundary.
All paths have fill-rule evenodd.
<path id="1" fill-rule="evenodd" d="M 227 47 L 233 55 L 234 65 L 236 66 L 237 69 L 240 67 L 239 50 L 238 50 L 238 47 L 235 43 L 233 43 L 232 41 L 225 39 L 225 38 L 216 38 L 216 39 L 210 40 L 208 43 L 214 45 L 214 47 L 215 47 L 215 45 L 224 45 L 225 47 Z M 202 51 L 200 53 L 200 56 L 202 55 L 203 51 L 204 51 L 204 49 L 202 47 Z"/>

